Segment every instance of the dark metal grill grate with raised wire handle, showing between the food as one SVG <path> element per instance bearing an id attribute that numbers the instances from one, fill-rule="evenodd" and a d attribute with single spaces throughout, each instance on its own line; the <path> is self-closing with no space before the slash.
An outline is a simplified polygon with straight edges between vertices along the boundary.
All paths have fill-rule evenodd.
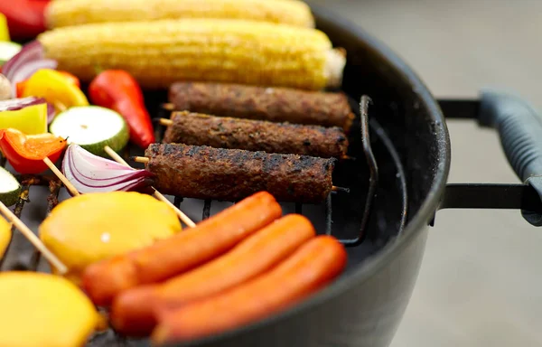
<path id="1" fill-rule="evenodd" d="M 402 194 L 402 208 L 401 208 L 401 223 L 397 226 L 398 232 L 400 233 L 402 229 L 404 228 L 406 224 L 406 179 L 405 179 L 405 173 L 403 172 L 402 166 L 400 164 L 400 160 L 397 157 L 397 153 L 395 153 L 395 149 L 393 148 L 393 145 L 391 144 L 391 141 L 388 139 L 386 134 L 384 133 L 383 129 L 378 126 L 378 123 L 375 119 L 370 119 L 369 121 L 369 104 L 371 103 L 370 98 L 368 97 L 362 97 L 360 104 L 355 103 L 357 106 L 359 105 L 360 108 L 353 108 L 355 110 L 355 113 L 357 114 L 357 121 L 360 122 L 360 133 L 353 134 L 355 136 L 360 136 L 359 139 L 353 139 L 351 142 L 351 146 L 354 147 L 354 157 L 350 159 L 350 164 L 348 170 L 342 170 L 343 172 L 339 174 L 341 178 L 343 179 L 343 182 L 346 183 L 346 185 L 352 184 L 350 188 L 350 192 L 332 192 L 330 195 L 328 195 L 326 201 L 322 204 L 322 206 L 319 206 L 318 208 L 323 209 L 323 216 L 322 212 L 316 212 L 313 214 L 313 216 L 316 219 L 322 219 L 322 223 L 315 223 L 315 225 L 322 225 L 323 230 L 319 230 L 322 233 L 326 234 L 336 234 L 341 230 L 344 226 L 341 225 L 341 222 L 345 219 L 345 216 L 348 216 L 352 214 L 352 211 L 355 211 L 356 215 L 362 211 L 362 214 L 360 215 L 360 220 L 356 221 L 355 227 L 350 229 L 353 229 L 355 231 L 355 235 L 352 235 L 353 237 L 347 238 L 339 238 L 339 235 L 334 235 L 338 237 L 338 239 L 341 239 L 341 242 L 345 244 L 348 247 L 358 246 L 362 241 L 364 240 L 367 235 L 365 234 L 366 229 L 369 229 L 369 224 L 372 224 L 373 221 L 369 222 L 369 216 L 371 215 L 371 209 L 373 205 L 375 204 L 375 197 L 378 188 L 378 164 L 375 159 L 375 155 L 373 155 L 373 149 L 371 148 L 371 138 L 369 137 L 369 129 L 372 131 L 374 135 L 376 135 L 376 140 L 380 141 L 380 144 L 384 144 L 384 147 L 388 151 L 388 153 L 391 154 L 392 160 L 397 167 L 397 190 Z M 164 111 L 164 110 L 163 110 Z M 379 129 L 379 131 L 378 131 Z M 157 141 L 161 141 L 162 135 L 164 134 L 164 128 L 163 126 L 158 126 L 156 123 L 155 126 L 156 131 L 156 139 Z M 381 145 L 380 145 L 381 146 Z M 362 149 L 362 150 L 361 150 Z M 382 148 L 379 148 L 378 151 L 381 151 Z M 378 152 L 377 151 L 377 152 Z M 130 149 L 126 148 L 126 153 L 123 154 L 125 159 L 128 159 L 133 154 L 130 153 Z M 365 166 L 363 166 L 362 161 L 360 160 L 360 156 L 365 156 L 365 161 L 368 166 L 368 170 L 365 169 Z M 377 153 L 377 155 L 380 155 L 380 152 Z M 357 158 L 356 158 L 357 156 Z M 356 160 L 357 159 L 357 160 Z M 5 167 L 6 160 L 5 158 L 0 158 L 0 164 Z M 360 171 L 360 169 L 363 169 L 363 171 L 369 172 L 369 180 L 367 180 L 367 173 L 356 173 L 356 176 L 352 178 L 351 174 L 346 174 L 344 171 L 349 171 L 350 169 L 355 168 L 357 172 Z M 346 178 L 345 178 L 346 177 Z M 51 210 L 58 205 L 59 203 L 59 195 L 61 194 L 62 190 L 62 183 L 61 181 L 56 178 L 54 175 L 46 174 L 46 175 L 18 175 L 16 176 L 17 180 L 22 185 L 22 191 L 20 193 L 18 201 L 15 203 L 14 206 L 14 214 L 21 218 L 23 214 L 23 209 L 25 206 L 27 206 L 27 203 L 30 202 L 30 192 L 32 188 L 35 187 L 47 187 L 49 192 L 47 194 L 47 214 L 51 212 Z M 341 180 L 341 178 L 339 178 Z M 363 182 L 358 182 L 363 181 Z M 369 181 L 369 182 L 367 182 Z M 367 185 L 367 183 L 369 183 Z M 367 195 L 365 195 L 366 192 L 369 192 Z M 355 200 L 354 198 L 365 198 L 365 203 L 363 206 L 360 205 L 360 203 L 356 202 L 356 205 L 354 207 L 350 207 L 350 204 Z M 185 204 L 188 204 L 188 200 L 191 199 L 183 199 L 181 196 L 174 196 L 173 197 L 173 204 L 181 208 L 183 205 L 182 202 L 185 202 Z M 211 212 L 211 206 L 213 203 L 216 203 L 217 205 L 222 206 L 220 202 L 213 202 L 210 200 L 206 200 L 203 202 L 202 211 L 201 211 L 201 218 L 202 220 L 205 220 L 210 217 Z M 184 208 L 190 207 L 188 205 L 183 206 Z M 285 210 L 287 210 L 287 206 L 283 204 L 283 207 L 285 207 Z M 296 213 L 299 214 L 305 214 L 308 216 L 308 214 L 314 213 L 314 207 L 312 205 L 305 206 L 301 203 L 295 203 L 293 206 L 293 210 Z M 333 230 L 333 211 L 335 211 L 335 218 L 340 222 L 340 227 L 336 228 L 336 230 Z M 25 212 L 26 213 L 26 212 Z M 378 216 L 375 217 L 375 220 L 378 220 Z M 378 221 L 377 221 L 378 222 Z M 369 230 L 372 230 L 372 225 L 370 226 Z M 372 231 L 371 231 L 372 232 Z M 352 232 L 353 234 L 353 232 Z M 342 235 L 341 235 L 342 236 Z M 17 238 L 16 242 L 14 242 L 14 239 Z M 10 254 L 10 261 L 9 264 L 3 264 L 3 261 L 5 261 L 6 258 L 3 259 L 0 258 L 0 268 L 3 270 L 29 270 L 29 271 L 38 271 L 38 270 L 44 270 L 47 271 L 48 267 L 45 262 L 42 262 L 40 253 L 37 250 L 33 250 L 32 257 L 29 258 L 29 260 L 23 260 L 23 258 L 18 257 L 19 255 L 17 252 L 19 251 L 19 243 L 20 242 L 26 242 L 26 239 L 23 238 L 23 235 L 17 231 L 14 230 L 13 236 L 12 236 L 12 242 L 8 249 L 6 250 L 6 255 Z M 17 243 L 17 245 L 14 245 L 14 243 Z M 369 238 L 367 242 L 363 242 L 365 245 L 368 243 L 370 245 L 371 239 Z M 370 248 L 371 246 L 368 247 Z M 16 246 L 16 247 L 15 247 Z M 360 248 L 364 248 L 365 246 L 360 246 Z M 363 253 L 364 251 L 361 251 Z M 15 259 L 15 260 L 14 260 Z M 92 346 L 111 346 L 111 345 L 117 345 L 117 346 L 128 346 L 133 345 L 133 341 L 126 340 L 126 338 L 123 338 L 122 336 L 117 335 L 112 330 L 108 330 L 104 333 L 97 333 L 95 334 L 91 340 L 89 341 L 89 345 Z M 137 345 L 139 345 L 137 343 Z"/>

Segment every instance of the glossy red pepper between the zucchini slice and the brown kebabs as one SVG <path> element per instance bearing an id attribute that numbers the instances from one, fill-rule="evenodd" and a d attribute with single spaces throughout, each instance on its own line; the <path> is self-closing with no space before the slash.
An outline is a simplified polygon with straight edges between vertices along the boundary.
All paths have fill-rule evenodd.
<path id="1" fill-rule="evenodd" d="M 151 117 L 145 108 L 143 92 L 125 70 L 105 70 L 90 82 L 89 98 L 95 105 L 111 108 L 126 119 L 130 140 L 142 148 L 154 143 Z"/>

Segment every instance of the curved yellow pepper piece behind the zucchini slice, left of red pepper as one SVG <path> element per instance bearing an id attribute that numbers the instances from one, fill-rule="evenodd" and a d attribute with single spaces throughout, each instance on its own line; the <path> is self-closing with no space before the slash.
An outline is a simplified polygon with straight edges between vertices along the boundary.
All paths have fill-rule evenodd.
<path id="1" fill-rule="evenodd" d="M 81 89 L 70 83 L 61 72 L 51 69 L 34 72 L 24 87 L 24 97 L 45 98 L 57 112 L 74 106 L 89 105 L 89 100 Z"/>

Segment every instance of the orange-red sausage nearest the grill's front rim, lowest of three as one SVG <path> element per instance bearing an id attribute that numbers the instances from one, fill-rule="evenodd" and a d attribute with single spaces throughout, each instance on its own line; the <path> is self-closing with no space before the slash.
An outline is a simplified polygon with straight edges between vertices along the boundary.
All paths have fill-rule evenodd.
<path id="1" fill-rule="evenodd" d="M 237 328 L 276 314 L 337 277 L 346 251 L 331 236 L 319 236 L 273 270 L 240 286 L 179 308 L 164 308 L 153 342 L 185 342 Z"/>

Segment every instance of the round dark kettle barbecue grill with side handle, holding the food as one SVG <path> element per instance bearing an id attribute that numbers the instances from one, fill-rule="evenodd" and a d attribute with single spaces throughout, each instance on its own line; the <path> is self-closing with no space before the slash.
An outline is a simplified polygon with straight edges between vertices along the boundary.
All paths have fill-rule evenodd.
<path id="1" fill-rule="evenodd" d="M 408 66 L 356 25 L 313 6 L 317 26 L 348 52 L 342 89 L 351 98 L 356 121 L 350 131 L 349 160 L 337 165 L 332 192 L 321 205 L 283 204 L 285 213 L 309 217 L 319 233 L 348 246 L 349 266 L 341 278 L 300 305 L 238 330 L 185 343 L 190 346 L 352 346 L 381 347 L 391 342 L 416 283 L 429 225 L 439 208 L 518 209 L 542 225 L 542 120 L 514 97 L 484 92 L 480 100 L 435 100 Z M 164 117 L 165 92 L 145 95 L 156 119 Z M 444 111 L 444 112 L 443 112 Z M 446 117 L 477 119 L 495 127 L 510 164 L 523 184 L 450 184 L 450 140 Z M 166 115 L 166 114 L 165 114 Z M 166 115 L 167 117 L 167 115 Z M 164 129 L 156 122 L 157 138 Z M 128 148 L 126 158 L 141 155 Z M 5 161 L 2 163 L 5 164 Z M 31 229 L 68 197 L 52 175 L 21 176 L 15 205 Z M 202 220 L 232 202 L 169 197 L 192 220 Z M 47 271 L 19 233 L 3 270 Z M 114 332 L 89 342 L 148 345 Z"/>

